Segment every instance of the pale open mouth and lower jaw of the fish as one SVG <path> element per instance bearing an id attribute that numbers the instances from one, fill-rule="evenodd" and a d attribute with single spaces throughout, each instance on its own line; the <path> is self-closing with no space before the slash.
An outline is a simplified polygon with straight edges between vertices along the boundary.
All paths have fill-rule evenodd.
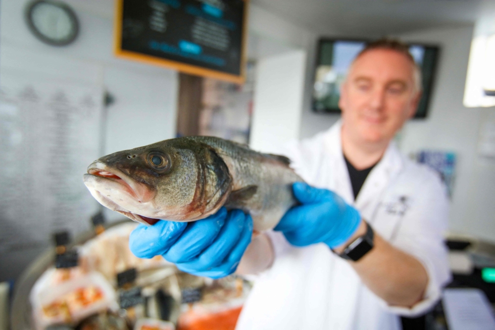
<path id="1" fill-rule="evenodd" d="M 137 182 L 118 169 L 96 161 L 89 165 L 88 174 L 84 174 L 84 184 L 93 197 L 110 210 L 145 224 L 154 224 L 159 220 L 136 214 L 123 206 L 144 209 L 152 201 L 154 193 L 147 185 Z"/>

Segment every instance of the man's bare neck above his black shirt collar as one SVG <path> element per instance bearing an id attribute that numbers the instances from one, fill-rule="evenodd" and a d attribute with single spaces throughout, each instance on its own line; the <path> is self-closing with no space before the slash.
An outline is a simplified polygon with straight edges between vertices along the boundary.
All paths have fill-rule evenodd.
<path id="1" fill-rule="evenodd" d="M 345 129 L 341 130 L 342 152 L 354 168 L 361 170 L 369 168 L 380 161 L 385 154 L 389 141 L 362 142 L 356 141 L 352 134 Z"/>

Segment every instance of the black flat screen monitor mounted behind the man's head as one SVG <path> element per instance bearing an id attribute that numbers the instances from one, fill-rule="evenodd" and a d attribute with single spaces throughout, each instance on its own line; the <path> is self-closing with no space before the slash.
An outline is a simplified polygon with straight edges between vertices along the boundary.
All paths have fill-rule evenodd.
<path id="1" fill-rule="evenodd" d="M 340 113 L 340 88 L 352 60 L 366 46 L 366 40 L 321 39 L 318 45 L 316 71 L 313 84 L 313 110 L 324 113 Z M 433 78 L 439 47 L 409 44 L 409 52 L 421 68 L 423 96 L 415 118 L 425 118 L 428 113 Z"/>

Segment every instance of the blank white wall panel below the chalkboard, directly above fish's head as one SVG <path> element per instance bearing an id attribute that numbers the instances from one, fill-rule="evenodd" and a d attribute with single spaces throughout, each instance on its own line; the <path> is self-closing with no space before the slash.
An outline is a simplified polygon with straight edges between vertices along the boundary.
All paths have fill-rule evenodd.
<path id="1" fill-rule="evenodd" d="M 104 86 L 115 98 L 108 108 L 105 154 L 175 137 L 175 72 L 112 65 L 105 68 Z"/>

